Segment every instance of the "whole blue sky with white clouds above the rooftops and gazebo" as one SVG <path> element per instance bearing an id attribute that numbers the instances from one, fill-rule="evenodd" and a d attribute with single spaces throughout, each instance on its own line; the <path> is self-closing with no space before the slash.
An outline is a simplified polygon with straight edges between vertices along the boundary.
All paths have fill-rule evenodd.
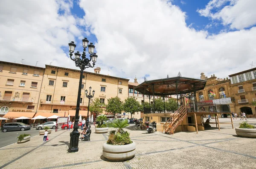
<path id="1" fill-rule="evenodd" d="M 256 0 L 1 0 L 0 60 L 78 69 L 68 43 L 82 51 L 87 37 L 102 74 L 130 81 L 137 75 L 139 83 L 178 72 L 224 78 L 256 65 L 255 6 Z"/>

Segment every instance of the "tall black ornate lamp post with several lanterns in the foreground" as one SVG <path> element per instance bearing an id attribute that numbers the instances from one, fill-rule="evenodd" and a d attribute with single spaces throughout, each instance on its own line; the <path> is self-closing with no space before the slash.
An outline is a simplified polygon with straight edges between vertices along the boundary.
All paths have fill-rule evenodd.
<path id="1" fill-rule="evenodd" d="M 73 60 L 76 63 L 76 67 L 79 67 L 80 70 L 80 79 L 79 79 L 79 88 L 78 88 L 78 95 L 77 95 L 77 101 L 76 101 L 76 115 L 75 115 L 75 123 L 73 126 L 73 132 L 70 133 L 70 147 L 68 149 L 68 152 L 78 152 L 78 143 L 79 143 L 79 131 L 78 131 L 78 122 L 79 122 L 79 109 L 80 109 L 80 97 L 81 97 L 81 86 L 82 86 L 82 78 L 83 78 L 83 72 L 86 68 L 93 68 L 98 55 L 94 53 L 95 46 L 93 43 L 89 43 L 89 40 L 85 37 L 83 40 L 83 48 L 84 51 L 82 54 L 79 52 L 74 53 L 75 57 L 73 56 L 73 52 L 75 52 L 76 44 L 72 41 L 68 44 L 69 46 L 69 52 L 70 52 L 70 59 Z M 88 47 L 88 53 L 90 54 L 90 59 L 86 58 L 86 48 Z M 90 63 L 92 61 L 92 64 Z M 89 107 L 88 107 L 89 109 Z"/>

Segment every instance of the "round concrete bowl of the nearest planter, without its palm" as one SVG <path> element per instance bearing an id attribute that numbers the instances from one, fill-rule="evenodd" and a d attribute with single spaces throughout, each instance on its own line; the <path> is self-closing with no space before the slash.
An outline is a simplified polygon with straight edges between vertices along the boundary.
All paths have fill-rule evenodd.
<path id="1" fill-rule="evenodd" d="M 107 143 L 103 144 L 103 156 L 110 161 L 126 161 L 134 158 L 136 153 L 136 143 L 115 146 Z"/>

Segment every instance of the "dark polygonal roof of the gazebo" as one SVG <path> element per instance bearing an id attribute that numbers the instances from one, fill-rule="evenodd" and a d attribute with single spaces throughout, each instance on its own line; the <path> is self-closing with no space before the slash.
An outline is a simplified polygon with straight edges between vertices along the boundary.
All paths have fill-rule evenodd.
<path id="1" fill-rule="evenodd" d="M 206 80 L 189 77 L 169 77 L 148 80 L 134 89 L 144 95 L 180 95 L 204 89 Z"/>

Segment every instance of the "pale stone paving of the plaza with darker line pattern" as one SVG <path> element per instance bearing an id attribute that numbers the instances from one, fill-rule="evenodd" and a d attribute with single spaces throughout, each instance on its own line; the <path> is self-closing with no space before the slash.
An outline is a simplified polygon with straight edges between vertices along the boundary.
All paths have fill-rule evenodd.
<path id="1" fill-rule="evenodd" d="M 234 120 L 238 127 L 242 120 Z M 220 119 L 230 122 L 230 119 Z M 256 119 L 248 119 L 256 125 Z M 211 126 L 214 126 L 211 124 Z M 256 139 L 237 137 L 231 124 L 220 124 L 221 130 L 161 132 L 127 130 L 137 144 L 136 155 L 125 162 L 109 162 L 102 156 L 102 145 L 108 134 L 93 133 L 91 141 L 79 141 L 79 152 L 68 153 L 70 132 L 59 130 L 43 136 L 31 137 L 22 144 L 0 148 L 0 168 L 3 169 L 256 169 Z M 109 129 L 111 130 L 111 129 Z M 39 133 L 39 131 L 38 131 Z"/>

